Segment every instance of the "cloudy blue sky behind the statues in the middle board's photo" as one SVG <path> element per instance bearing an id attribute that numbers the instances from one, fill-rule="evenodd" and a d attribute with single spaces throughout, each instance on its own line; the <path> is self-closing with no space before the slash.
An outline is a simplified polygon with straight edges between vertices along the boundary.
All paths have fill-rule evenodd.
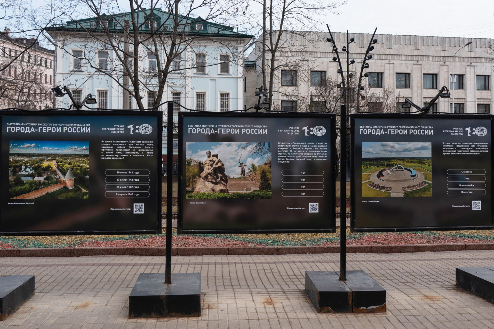
<path id="1" fill-rule="evenodd" d="M 265 157 L 253 156 L 247 149 L 242 149 L 245 143 L 230 142 L 187 142 L 186 157 L 193 158 L 204 163 L 206 160 L 206 151 L 210 150 L 211 154 L 217 153 L 218 159 L 225 164 L 225 173 L 230 177 L 240 177 L 240 162 L 244 162 L 247 169 L 253 163 L 256 166 L 266 162 Z"/>

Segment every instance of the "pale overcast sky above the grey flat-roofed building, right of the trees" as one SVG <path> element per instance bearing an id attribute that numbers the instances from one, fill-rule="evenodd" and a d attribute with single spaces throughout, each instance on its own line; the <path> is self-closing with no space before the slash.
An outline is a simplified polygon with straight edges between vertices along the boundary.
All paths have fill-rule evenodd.
<path id="1" fill-rule="evenodd" d="M 494 38 L 494 0 L 348 0 L 336 10 L 320 18 L 331 32 Z"/>

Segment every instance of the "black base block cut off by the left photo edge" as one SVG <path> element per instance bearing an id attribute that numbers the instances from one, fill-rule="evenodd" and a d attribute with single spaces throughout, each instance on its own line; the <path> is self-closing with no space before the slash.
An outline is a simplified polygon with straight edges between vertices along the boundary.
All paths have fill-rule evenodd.
<path id="1" fill-rule="evenodd" d="M 0 277 L 0 321 L 14 313 L 34 295 L 34 275 Z"/>

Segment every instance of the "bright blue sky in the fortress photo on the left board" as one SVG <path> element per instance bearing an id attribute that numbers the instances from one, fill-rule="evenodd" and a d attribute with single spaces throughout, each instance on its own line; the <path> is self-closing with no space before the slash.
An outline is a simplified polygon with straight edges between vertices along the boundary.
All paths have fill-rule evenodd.
<path id="1" fill-rule="evenodd" d="M 89 154 L 89 142 L 10 141 L 10 153 Z"/>

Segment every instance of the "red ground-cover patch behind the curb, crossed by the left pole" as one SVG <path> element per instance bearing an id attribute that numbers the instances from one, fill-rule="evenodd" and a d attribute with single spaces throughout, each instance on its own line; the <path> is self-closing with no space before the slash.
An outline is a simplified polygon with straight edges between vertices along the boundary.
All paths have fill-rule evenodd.
<path id="1" fill-rule="evenodd" d="M 142 240 L 114 240 L 114 241 L 90 241 L 82 243 L 77 247 L 165 247 L 166 237 L 153 236 Z M 230 239 L 209 238 L 201 236 L 172 236 L 171 243 L 173 247 L 253 247 L 264 246 L 263 244 L 254 244 L 244 241 L 235 241 Z"/>

